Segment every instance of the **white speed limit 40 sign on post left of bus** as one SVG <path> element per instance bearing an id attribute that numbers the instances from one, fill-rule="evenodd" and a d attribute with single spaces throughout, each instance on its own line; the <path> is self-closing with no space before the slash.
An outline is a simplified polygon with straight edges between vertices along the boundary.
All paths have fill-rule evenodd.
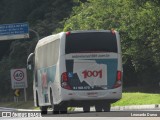
<path id="1" fill-rule="evenodd" d="M 12 89 L 24 88 L 24 99 L 27 101 L 26 88 L 27 85 L 27 72 L 25 68 L 11 69 L 11 82 Z"/>

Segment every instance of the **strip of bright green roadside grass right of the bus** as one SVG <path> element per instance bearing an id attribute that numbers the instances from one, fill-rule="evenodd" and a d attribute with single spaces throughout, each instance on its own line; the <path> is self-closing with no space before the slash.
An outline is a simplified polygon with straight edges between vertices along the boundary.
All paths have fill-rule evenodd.
<path id="1" fill-rule="evenodd" d="M 160 94 L 152 93 L 123 93 L 122 99 L 113 103 L 112 106 L 126 106 L 126 105 L 147 105 L 160 104 Z"/>

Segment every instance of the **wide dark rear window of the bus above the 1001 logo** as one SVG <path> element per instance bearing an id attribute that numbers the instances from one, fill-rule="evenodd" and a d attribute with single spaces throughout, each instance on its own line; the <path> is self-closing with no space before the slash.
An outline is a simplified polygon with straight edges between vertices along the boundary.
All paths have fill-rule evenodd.
<path id="1" fill-rule="evenodd" d="M 90 52 L 117 53 L 116 35 L 111 32 L 82 32 L 66 35 L 66 54 Z"/>

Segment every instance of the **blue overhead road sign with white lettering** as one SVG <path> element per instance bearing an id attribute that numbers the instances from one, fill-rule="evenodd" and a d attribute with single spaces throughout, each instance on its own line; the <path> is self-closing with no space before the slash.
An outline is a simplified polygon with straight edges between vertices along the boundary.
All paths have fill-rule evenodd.
<path id="1" fill-rule="evenodd" d="M 0 40 L 29 38 L 28 23 L 0 25 Z"/>

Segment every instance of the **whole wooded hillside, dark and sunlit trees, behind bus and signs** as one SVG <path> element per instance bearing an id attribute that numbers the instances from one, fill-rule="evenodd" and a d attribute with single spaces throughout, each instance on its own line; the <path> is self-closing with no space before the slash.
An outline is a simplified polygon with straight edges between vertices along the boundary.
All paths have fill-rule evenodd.
<path id="1" fill-rule="evenodd" d="M 0 7 L 0 24 L 28 22 L 41 38 L 71 30 L 119 31 L 124 87 L 147 87 L 152 92 L 159 89 L 159 0 L 1 0 Z M 34 51 L 36 39 L 30 33 L 30 39 L 14 40 L 9 45 L 0 61 L 0 96 L 12 95 L 10 69 L 26 67 L 27 56 Z M 30 94 L 31 72 L 28 72 L 28 81 Z M 32 94 L 30 96 L 32 98 Z"/>

